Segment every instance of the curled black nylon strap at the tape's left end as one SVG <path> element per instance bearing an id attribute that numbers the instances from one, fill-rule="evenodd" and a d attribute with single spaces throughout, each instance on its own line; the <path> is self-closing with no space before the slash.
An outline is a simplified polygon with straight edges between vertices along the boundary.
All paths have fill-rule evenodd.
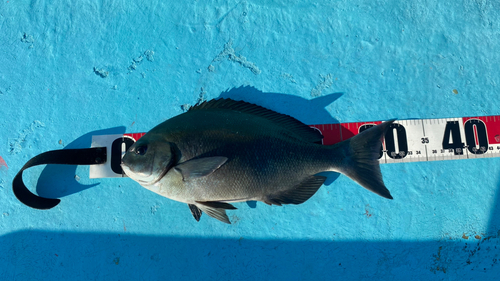
<path id="1" fill-rule="evenodd" d="M 84 149 L 62 149 L 51 150 L 31 158 L 23 168 L 17 173 L 12 181 L 12 190 L 17 199 L 23 204 L 41 210 L 54 208 L 61 202 L 60 199 L 44 198 L 33 194 L 24 185 L 23 171 L 44 164 L 64 164 L 64 165 L 96 165 L 106 162 L 106 147 L 94 147 Z"/>

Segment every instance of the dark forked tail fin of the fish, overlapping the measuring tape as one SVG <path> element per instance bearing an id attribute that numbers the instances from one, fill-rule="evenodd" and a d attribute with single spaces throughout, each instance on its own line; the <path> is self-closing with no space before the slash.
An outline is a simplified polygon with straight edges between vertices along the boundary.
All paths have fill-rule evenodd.
<path id="1" fill-rule="evenodd" d="M 387 199 L 392 199 L 392 196 L 382 180 L 378 158 L 381 139 L 394 120 L 371 127 L 332 147 L 337 155 L 343 156 L 339 172 Z"/>

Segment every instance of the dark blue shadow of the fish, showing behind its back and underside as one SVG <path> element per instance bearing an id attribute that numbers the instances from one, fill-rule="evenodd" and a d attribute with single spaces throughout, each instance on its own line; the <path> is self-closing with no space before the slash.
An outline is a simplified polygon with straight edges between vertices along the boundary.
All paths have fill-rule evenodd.
<path id="1" fill-rule="evenodd" d="M 282 114 L 290 115 L 305 124 L 316 125 L 340 123 L 325 108 L 341 96 L 342 93 L 332 93 L 307 100 L 287 94 L 266 93 L 251 86 L 241 86 L 222 92 L 219 98 L 243 100 Z M 327 186 L 331 185 L 340 176 L 339 173 L 335 172 L 323 172 L 321 175 L 327 177 L 324 183 Z M 257 207 L 254 201 L 248 201 L 247 203 L 250 208 Z"/>

